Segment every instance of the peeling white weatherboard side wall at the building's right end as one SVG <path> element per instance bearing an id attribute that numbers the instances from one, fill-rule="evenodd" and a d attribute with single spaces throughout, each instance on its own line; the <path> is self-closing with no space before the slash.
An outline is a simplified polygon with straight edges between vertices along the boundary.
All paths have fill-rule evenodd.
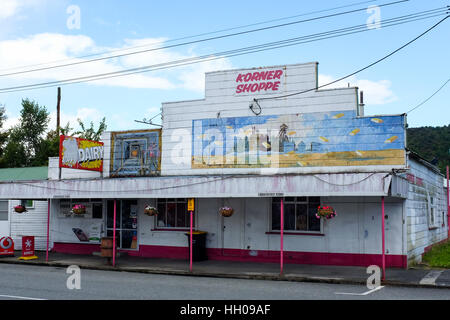
<path id="1" fill-rule="evenodd" d="M 447 238 L 446 194 L 443 176 L 418 161 L 409 160 L 411 174 L 423 180 L 423 186 L 408 183 L 409 192 L 406 199 L 407 212 L 407 251 L 408 263 L 420 262 L 424 249 Z M 429 225 L 429 195 L 434 196 L 436 210 L 436 227 Z M 444 214 L 443 214 L 444 213 Z"/>

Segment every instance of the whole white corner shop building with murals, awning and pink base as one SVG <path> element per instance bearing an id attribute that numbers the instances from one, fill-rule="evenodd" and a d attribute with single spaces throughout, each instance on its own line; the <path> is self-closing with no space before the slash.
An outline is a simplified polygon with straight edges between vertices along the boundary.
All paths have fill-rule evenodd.
<path id="1" fill-rule="evenodd" d="M 317 75 L 317 63 L 207 73 L 204 99 L 162 104 L 162 129 L 107 132 L 83 149 L 91 169 L 103 156 L 100 171 L 50 159 L 48 181 L 2 185 L 0 197 L 49 199 L 56 252 L 100 251 L 116 229 L 121 252 L 187 259 L 194 198 L 209 259 L 278 262 L 283 250 L 285 263 L 419 261 L 448 238 L 443 175 L 407 150 L 406 115 L 365 116 L 358 88 L 310 90 Z M 219 215 L 224 206 L 234 214 Z M 337 216 L 318 219 L 318 206 Z"/>

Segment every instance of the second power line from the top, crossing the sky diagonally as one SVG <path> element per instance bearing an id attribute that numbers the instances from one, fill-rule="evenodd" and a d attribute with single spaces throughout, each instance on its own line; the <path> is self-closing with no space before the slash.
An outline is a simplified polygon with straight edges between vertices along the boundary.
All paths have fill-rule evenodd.
<path id="1" fill-rule="evenodd" d="M 379 5 L 379 7 L 390 6 L 390 5 L 398 4 L 401 2 L 405 2 L 405 1 L 408 1 L 408 0 L 400 0 L 400 1 L 396 1 L 396 2 L 381 4 L 381 5 Z M 321 20 L 321 19 L 341 16 L 341 15 L 346 15 L 346 14 L 350 14 L 350 13 L 360 12 L 363 10 L 365 11 L 365 10 L 367 10 L 367 8 L 359 8 L 359 9 L 354 9 L 354 10 L 350 10 L 350 11 L 329 14 L 329 15 L 325 15 L 325 16 L 313 17 L 313 18 L 309 18 L 309 19 L 305 19 L 305 20 L 298 20 L 298 21 L 293 21 L 293 22 L 288 22 L 288 23 L 283 23 L 283 24 L 278 24 L 278 25 L 273 25 L 273 26 L 268 26 L 268 27 L 262 27 L 262 28 L 258 28 L 258 29 L 246 30 L 246 31 L 241 31 L 241 32 L 236 32 L 236 33 L 225 34 L 225 35 L 221 35 L 221 36 L 209 37 L 209 38 L 204 38 L 204 39 L 200 39 L 200 40 L 188 41 L 188 42 L 183 42 L 183 43 L 179 43 L 179 44 L 167 45 L 167 46 L 151 48 L 151 49 L 146 49 L 146 50 L 140 50 L 140 51 L 134 51 L 134 52 L 129 52 L 129 53 L 122 53 L 122 54 L 118 54 L 118 55 L 112 55 L 112 56 L 101 57 L 101 58 L 96 58 L 96 59 L 77 61 L 77 62 L 61 64 L 61 65 L 57 65 L 57 66 L 49 66 L 49 67 L 43 67 L 43 68 L 37 68 L 37 69 L 4 73 L 4 74 L 0 74 L 0 77 L 25 74 L 25 73 L 31 73 L 31 72 L 37 72 L 37 71 L 44 71 L 44 70 L 50 70 L 50 69 L 55 69 L 55 68 L 63 68 L 63 67 L 92 63 L 92 62 L 97 62 L 97 61 L 102 61 L 102 60 L 109 60 L 109 59 L 113 59 L 113 58 L 120 58 L 120 57 L 140 54 L 140 53 L 147 53 L 147 52 L 152 52 L 152 51 L 170 49 L 170 48 L 179 47 L 179 46 L 185 46 L 185 45 L 207 42 L 207 41 L 212 41 L 212 40 L 224 39 L 224 38 L 240 36 L 240 35 L 254 33 L 254 32 L 260 32 L 260 31 L 265 31 L 265 30 L 270 30 L 270 29 L 275 29 L 275 28 L 286 27 L 286 26 L 290 26 L 290 25 L 294 25 L 294 24 L 300 24 L 300 23 L 311 22 L 311 21 L 315 21 L 315 20 Z"/>

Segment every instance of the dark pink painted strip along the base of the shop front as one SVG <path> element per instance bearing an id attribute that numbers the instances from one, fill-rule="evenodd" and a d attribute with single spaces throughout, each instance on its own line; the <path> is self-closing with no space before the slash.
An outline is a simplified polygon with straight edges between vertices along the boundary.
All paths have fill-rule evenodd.
<path id="1" fill-rule="evenodd" d="M 72 254 L 92 254 L 92 252 L 100 251 L 100 245 L 55 243 L 52 251 Z M 189 248 L 187 246 L 174 247 L 139 245 L 138 251 L 120 251 L 127 252 L 129 256 L 142 258 L 189 260 Z M 207 255 L 210 260 L 271 263 L 280 262 L 280 251 L 207 248 Z M 380 261 L 381 254 L 284 251 L 284 263 L 292 264 L 367 267 L 370 265 L 379 265 Z M 386 255 L 386 267 L 407 268 L 407 265 L 408 259 L 406 255 Z"/>

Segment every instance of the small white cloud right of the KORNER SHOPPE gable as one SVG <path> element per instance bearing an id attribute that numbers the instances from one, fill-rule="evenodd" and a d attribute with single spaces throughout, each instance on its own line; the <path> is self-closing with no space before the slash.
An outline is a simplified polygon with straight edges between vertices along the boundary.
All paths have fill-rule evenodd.
<path id="1" fill-rule="evenodd" d="M 319 86 L 336 80 L 330 75 L 319 74 Z M 397 100 L 397 96 L 392 92 L 392 83 L 389 80 L 372 81 L 367 79 L 357 79 L 355 76 L 326 86 L 323 89 L 343 88 L 350 86 L 358 87 L 364 91 L 364 103 L 370 105 L 382 105 Z"/>

